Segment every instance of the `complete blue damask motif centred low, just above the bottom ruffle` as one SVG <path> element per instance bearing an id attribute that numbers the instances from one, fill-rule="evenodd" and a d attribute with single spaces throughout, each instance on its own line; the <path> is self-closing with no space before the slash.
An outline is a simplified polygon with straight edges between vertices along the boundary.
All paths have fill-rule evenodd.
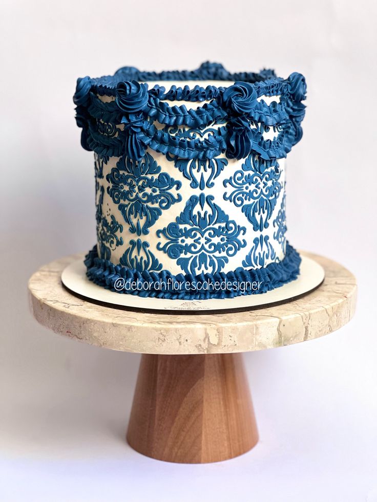
<path id="1" fill-rule="evenodd" d="M 157 244 L 157 249 L 165 252 L 186 273 L 216 273 L 246 246 L 240 239 L 246 232 L 214 203 L 213 195 L 204 193 L 192 195 L 176 221 L 162 230 L 158 237 L 167 242 Z"/>

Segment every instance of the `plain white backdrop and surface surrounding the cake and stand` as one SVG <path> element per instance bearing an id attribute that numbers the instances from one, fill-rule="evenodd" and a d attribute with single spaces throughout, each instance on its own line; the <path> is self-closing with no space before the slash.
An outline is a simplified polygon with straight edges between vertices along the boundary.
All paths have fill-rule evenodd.
<path id="1" fill-rule="evenodd" d="M 376 4 L 2 2 L 0 500 L 377 500 Z M 95 242 L 78 76 L 276 68 L 308 82 L 288 159 L 289 239 L 359 281 L 357 315 L 322 339 L 245 354 L 260 443 L 213 465 L 124 442 L 139 356 L 53 335 L 28 312 L 39 266 Z"/>

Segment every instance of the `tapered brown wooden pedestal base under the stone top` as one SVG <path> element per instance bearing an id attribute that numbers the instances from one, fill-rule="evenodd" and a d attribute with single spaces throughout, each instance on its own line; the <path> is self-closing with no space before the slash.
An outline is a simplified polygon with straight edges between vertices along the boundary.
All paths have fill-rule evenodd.
<path id="1" fill-rule="evenodd" d="M 231 459 L 258 442 L 241 354 L 141 359 L 127 441 L 166 462 Z"/>

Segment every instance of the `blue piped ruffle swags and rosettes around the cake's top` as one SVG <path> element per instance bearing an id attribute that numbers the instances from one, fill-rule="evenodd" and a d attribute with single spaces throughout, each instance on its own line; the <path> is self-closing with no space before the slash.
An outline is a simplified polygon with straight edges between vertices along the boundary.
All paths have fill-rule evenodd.
<path id="1" fill-rule="evenodd" d="M 236 81 L 226 88 L 209 85 L 204 89 L 195 85 L 190 89 L 187 85 L 183 88 L 173 85 L 165 92 L 165 88 L 159 85 L 148 90 L 148 80 L 153 78 Z M 115 100 L 103 102 L 97 94 L 113 96 Z M 280 103 L 273 101 L 267 105 L 263 100 L 258 102 L 257 98 L 262 95 L 280 95 Z M 134 160 L 140 160 L 145 149 L 150 147 L 166 156 L 182 159 L 211 159 L 224 152 L 228 158 L 241 159 L 247 157 L 250 151 L 264 159 L 273 159 L 286 157 L 291 147 L 301 139 L 305 95 L 305 79 L 299 73 L 292 73 L 285 80 L 267 70 L 260 74 L 231 74 L 221 64 L 207 62 L 193 72 L 156 74 L 125 67 L 112 77 L 79 78 L 73 101 L 76 104 L 77 125 L 82 127 L 81 145 L 104 157 L 118 157 L 125 153 Z M 172 99 L 211 101 L 187 110 L 184 104 L 170 106 L 164 101 Z M 190 141 L 156 128 L 154 121 L 168 127 L 185 125 L 200 129 L 213 122 L 227 121 L 228 124 L 222 127 L 219 134 L 210 135 L 205 141 Z M 264 140 L 261 131 L 250 128 L 250 121 L 267 127 L 278 125 L 280 133 L 273 141 Z M 116 135 L 109 137 L 103 130 L 103 123 Z M 124 129 L 117 127 L 121 123 L 126 124 Z"/>

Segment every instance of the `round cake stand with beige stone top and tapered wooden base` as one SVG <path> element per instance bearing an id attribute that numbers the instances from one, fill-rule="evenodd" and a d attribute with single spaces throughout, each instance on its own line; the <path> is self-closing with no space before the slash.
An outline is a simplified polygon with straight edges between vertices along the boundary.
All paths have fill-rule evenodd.
<path id="1" fill-rule="evenodd" d="M 167 462 L 218 462 L 258 442 L 240 353 L 318 338 L 353 316 L 354 276 L 335 261 L 302 254 L 322 265 L 324 282 L 301 298 L 273 307 L 169 315 L 93 303 L 62 286 L 62 270 L 80 257 L 73 255 L 32 275 L 30 308 L 35 319 L 55 333 L 142 353 L 127 432 L 132 448 Z"/>

